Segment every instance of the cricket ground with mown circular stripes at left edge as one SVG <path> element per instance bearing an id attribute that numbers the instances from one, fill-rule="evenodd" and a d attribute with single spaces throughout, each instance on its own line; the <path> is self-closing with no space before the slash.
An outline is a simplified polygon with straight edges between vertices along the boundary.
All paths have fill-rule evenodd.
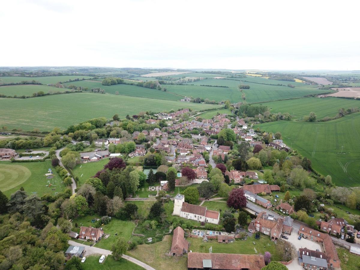
<path id="1" fill-rule="evenodd" d="M 1 161 L 0 190 L 7 196 L 20 189 L 21 186 L 28 194 L 36 192 L 39 197 L 45 193 L 55 195 L 55 192 L 62 192 L 65 186 L 61 183 L 62 180 L 55 170 L 53 170 L 55 177 L 46 179 L 45 174 L 48 173 L 48 168 L 52 168 L 50 160 L 17 163 Z M 51 187 L 46 186 L 49 183 Z"/>

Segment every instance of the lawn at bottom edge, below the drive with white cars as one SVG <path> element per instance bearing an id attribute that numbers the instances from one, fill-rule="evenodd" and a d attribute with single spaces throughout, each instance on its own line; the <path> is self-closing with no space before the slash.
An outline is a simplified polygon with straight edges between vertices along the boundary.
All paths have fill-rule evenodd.
<path id="1" fill-rule="evenodd" d="M 115 261 L 113 256 L 109 255 L 105 258 L 105 261 L 100 264 L 99 259 L 100 255 L 91 255 L 89 257 L 86 256 L 86 260 L 82 263 L 82 267 L 84 270 L 114 270 L 114 269 L 134 269 L 141 270 L 144 269 L 133 262 L 130 262 L 125 259 L 121 259 L 120 261 Z"/>

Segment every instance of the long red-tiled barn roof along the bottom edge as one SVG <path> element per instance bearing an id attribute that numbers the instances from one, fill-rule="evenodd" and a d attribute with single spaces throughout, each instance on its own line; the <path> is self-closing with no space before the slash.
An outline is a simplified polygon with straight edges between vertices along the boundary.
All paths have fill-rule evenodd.
<path id="1" fill-rule="evenodd" d="M 262 255 L 228 253 L 188 253 L 188 270 L 260 270 L 265 267 Z"/>

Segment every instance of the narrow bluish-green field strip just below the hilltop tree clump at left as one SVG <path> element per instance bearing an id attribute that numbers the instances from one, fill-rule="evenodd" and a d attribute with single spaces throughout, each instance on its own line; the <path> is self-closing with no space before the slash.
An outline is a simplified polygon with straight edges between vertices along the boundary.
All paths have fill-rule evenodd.
<path id="1" fill-rule="evenodd" d="M 141 98 L 156 98 L 156 99 L 165 99 L 165 100 L 180 100 L 182 96 L 175 95 L 169 92 L 164 92 L 156 89 L 150 89 L 146 87 L 140 87 L 136 85 L 127 85 L 127 84 L 116 84 L 116 85 L 102 85 L 101 82 L 95 81 L 77 81 L 77 82 L 68 82 L 64 85 L 76 85 L 82 87 L 91 88 L 100 87 L 105 90 L 105 93 L 115 94 L 119 92 L 119 95 L 125 96 L 139 96 Z M 0 89 L 1 90 L 1 89 Z"/>

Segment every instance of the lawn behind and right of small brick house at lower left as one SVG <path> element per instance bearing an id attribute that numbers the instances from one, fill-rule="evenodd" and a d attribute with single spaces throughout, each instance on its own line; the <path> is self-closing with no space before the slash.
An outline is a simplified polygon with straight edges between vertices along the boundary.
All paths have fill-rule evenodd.
<path id="1" fill-rule="evenodd" d="M 73 219 L 73 231 L 77 233 L 80 231 L 80 226 L 91 226 L 92 219 L 99 218 L 98 215 L 94 216 L 85 216 L 77 217 Z M 79 228 L 75 228 L 75 222 Z M 110 236 L 107 239 L 101 239 L 99 243 L 96 243 L 95 246 L 98 248 L 111 249 L 111 246 L 116 242 L 117 238 L 123 237 L 126 240 L 130 240 L 132 230 L 135 228 L 135 223 L 132 221 L 123 221 L 113 217 L 109 224 L 102 226 L 104 233 L 109 234 Z M 115 235 L 117 233 L 117 235 Z"/>

